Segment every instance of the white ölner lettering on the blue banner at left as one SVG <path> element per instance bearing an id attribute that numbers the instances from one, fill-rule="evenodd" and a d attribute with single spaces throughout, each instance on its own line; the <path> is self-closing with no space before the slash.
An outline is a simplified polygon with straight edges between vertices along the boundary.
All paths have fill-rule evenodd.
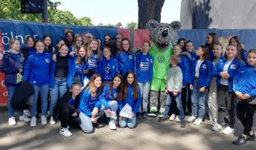
<path id="1" fill-rule="evenodd" d="M 24 43 L 24 39 L 26 39 L 27 36 L 29 36 L 30 34 L 26 34 L 25 37 L 23 37 L 22 35 L 15 35 L 15 38 L 17 38 L 18 40 L 20 40 L 21 43 Z M 33 37 L 38 37 L 38 34 L 33 34 Z M 8 32 L 2 32 L 2 43 L 4 45 L 8 45 L 9 41 L 11 38 L 14 38 L 14 32 L 10 31 L 10 34 L 8 34 Z"/>

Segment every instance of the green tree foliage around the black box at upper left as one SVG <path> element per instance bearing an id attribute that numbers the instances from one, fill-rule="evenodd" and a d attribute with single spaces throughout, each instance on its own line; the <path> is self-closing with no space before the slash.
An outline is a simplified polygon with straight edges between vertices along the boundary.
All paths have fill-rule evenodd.
<path id="1" fill-rule="evenodd" d="M 58 10 L 61 4 L 59 1 L 48 2 L 48 20 L 49 23 L 67 24 L 75 26 L 93 26 L 89 17 L 78 19 L 70 11 Z M 20 0 L 2 0 L 0 5 L 0 18 L 5 20 L 23 20 L 41 23 L 41 13 L 21 13 Z"/>

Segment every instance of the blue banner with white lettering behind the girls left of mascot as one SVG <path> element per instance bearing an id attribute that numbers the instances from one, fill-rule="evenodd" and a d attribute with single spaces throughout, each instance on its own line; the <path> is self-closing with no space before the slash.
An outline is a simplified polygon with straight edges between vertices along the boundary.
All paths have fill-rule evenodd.
<path id="1" fill-rule="evenodd" d="M 98 37 L 101 41 L 103 41 L 105 34 L 110 34 L 112 37 L 115 37 L 118 29 L 0 20 L 0 31 L 2 32 L 2 43 L 4 44 L 5 50 L 8 49 L 8 43 L 11 37 L 19 39 L 21 47 L 23 47 L 25 46 L 25 38 L 28 35 L 34 36 L 35 39 L 41 39 L 44 34 L 50 34 L 50 36 L 53 37 L 53 46 L 55 46 L 56 40 L 65 36 L 64 30 L 66 28 L 84 37 L 93 35 L 93 37 Z"/>

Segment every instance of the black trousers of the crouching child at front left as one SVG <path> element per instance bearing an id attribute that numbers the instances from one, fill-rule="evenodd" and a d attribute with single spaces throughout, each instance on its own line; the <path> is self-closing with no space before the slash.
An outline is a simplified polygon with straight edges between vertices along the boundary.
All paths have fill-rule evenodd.
<path id="1" fill-rule="evenodd" d="M 77 117 L 73 117 L 72 112 L 69 110 L 68 107 L 59 109 L 59 120 L 61 127 L 67 127 L 68 124 L 79 127 L 79 125 L 81 124 L 81 120 L 78 115 Z"/>

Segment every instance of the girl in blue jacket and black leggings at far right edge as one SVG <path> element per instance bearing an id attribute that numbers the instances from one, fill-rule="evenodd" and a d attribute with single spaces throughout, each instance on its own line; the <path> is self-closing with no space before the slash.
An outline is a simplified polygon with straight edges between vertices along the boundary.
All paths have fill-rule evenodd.
<path id="1" fill-rule="evenodd" d="M 256 49 L 248 51 L 247 64 L 239 69 L 233 81 L 233 90 L 239 98 L 236 115 L 244 126 L 242 135 L 233 141 L 236 145 L 255 139 L 251 127 L 256 110 Z"/>

